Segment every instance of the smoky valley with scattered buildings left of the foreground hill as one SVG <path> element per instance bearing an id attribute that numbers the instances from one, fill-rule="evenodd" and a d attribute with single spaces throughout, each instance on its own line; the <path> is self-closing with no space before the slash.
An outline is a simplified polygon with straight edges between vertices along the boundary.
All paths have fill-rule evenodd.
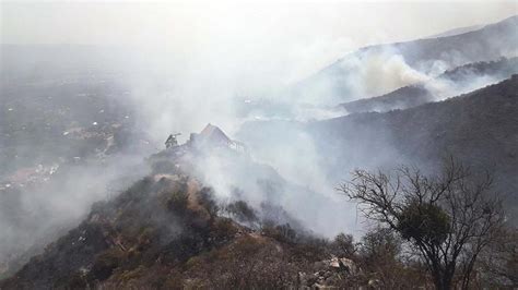
<path id="1" fill-rule="evenodd" d="M 0 57 L 43 61 L 51 51 L 17 49 L 1 46 Z M 21 73 L 8 63 L 17 61 L 0 65 L 9 71 L 0 77 L 0 276 L 7 264 L 40 252 L 57 232 L 79 223 L 121 180 L 145 171 L 133 166 L 153 149 L 118 74 L 44 63 Z"/>

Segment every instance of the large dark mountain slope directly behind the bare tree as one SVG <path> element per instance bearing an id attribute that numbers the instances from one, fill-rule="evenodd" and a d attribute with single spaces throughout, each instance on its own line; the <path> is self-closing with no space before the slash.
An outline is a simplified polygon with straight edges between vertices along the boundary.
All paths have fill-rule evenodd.
<path id="1" fill-rule="evenodd" d="M 398 164 L 433 171 L 452 155 L 475 171 L 493 171 L 495 189 L 518 217 L 518 75 L 444 101 L 314 122 L 307 130 L 337 178 L 356 167 Z"/>

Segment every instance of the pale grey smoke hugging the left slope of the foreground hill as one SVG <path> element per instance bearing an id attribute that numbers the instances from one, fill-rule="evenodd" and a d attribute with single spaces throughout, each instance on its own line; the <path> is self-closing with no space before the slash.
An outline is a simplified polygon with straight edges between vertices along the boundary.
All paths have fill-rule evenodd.
<path id="1" fill-rule="evenodd" d="M 46 176 L 33 176 L 32 184 L 9 180 L 2 184 L 0 263 L 5 267 L 3 270 L 14 270 L 8 263 L 27 261 L 76 226 L 94 202 L 113 197 L 146 173 L 140 156 L 125 154 L 111 156 L 104 164 L 40 165 L 37 170 L 36 173 Z"/>

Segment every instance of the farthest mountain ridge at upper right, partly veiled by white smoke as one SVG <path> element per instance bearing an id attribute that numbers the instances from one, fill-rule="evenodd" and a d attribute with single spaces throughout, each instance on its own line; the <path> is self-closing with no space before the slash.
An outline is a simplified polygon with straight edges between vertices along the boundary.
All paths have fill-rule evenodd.
<path id="1" fill-rule="evenodd" d="M 516 56 L 518 16 L 462 34 L 377 45 L 352 52 L 298 83 L 291 94 L 329 105 L 387 94 L 459 65 Z"/>

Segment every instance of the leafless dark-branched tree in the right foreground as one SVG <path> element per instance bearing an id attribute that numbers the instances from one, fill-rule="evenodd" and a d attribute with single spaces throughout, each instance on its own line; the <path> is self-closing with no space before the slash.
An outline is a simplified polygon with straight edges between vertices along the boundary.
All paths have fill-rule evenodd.
<path id="1" fill-rule="evenodd" d="M 455 281 L 469 287 L 479 254 L 502 227 L 502 203 L 492 184 L 490 173 L 475 176 L 450 158 L 434 177 L 409 167 L 390 173 L 356 170 L 339 190 L 368 219 L 407 240 L 443 290 Z"/>

